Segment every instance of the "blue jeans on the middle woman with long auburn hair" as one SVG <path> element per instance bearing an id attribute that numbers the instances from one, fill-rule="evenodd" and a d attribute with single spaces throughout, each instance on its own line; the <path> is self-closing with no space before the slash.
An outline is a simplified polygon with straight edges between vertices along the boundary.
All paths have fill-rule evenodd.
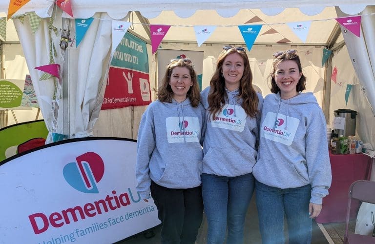
<path id="1" fill-rule="evenodd" d="M 202 174 L 202 195 L 208 221 L 208 244 L 244 242 L 244 224 L 255 180 L 251 173 L 236 177 Z"/>

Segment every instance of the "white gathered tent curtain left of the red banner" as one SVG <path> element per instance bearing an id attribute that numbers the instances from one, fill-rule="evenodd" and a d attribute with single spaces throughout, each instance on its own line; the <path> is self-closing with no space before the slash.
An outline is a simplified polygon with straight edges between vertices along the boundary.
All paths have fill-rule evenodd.
<path id="1" fill-rule="evenodd" d="M 57 11 L 55 26 L 62 26 L 62 11 Z M 52 34 L 58 56 L 55 62 L 61 64 L 66 60 L 65 69 L 69 70 L 68 77 L 62 77 L 66 94 L 62 99 L 57 98 L 57 122 L 54 122 L 52 112 L 53 94 L 55 84 L 53 79 L 39 81 L 42 71 L 33 69 L 49 63 L 49 34 L 48 20 L 42 19 L 37 32 L 32 34 L 28 26 L 28 18 L 24 25 L 15 20 L 25 58 L 30 70 L 31 79 L 38 97 L 43 118 L 50 132 L 46 143 L 52 142 L 51 133 L 64 134 L 68 138 L 92 136 L 93 126 L 99 117 L 99 112 L 104 96 L 104 81 L 110 60 L 111 47 L 111 21 L 106 20 L 106 13 L 96 14 L 86 33 L 86 38 L 81 42 L 82 48 L 69 49 L 66 57 L 61 58 L 59 45 L 60 36 Z M 99 20 L 100 19 L 100 20 Z M 65 107 L 64 107 L 65 106 Z M 65 120 L 65 121 L 64 121 Z M 67 120 L 67 121 L 66 121 Z M 68 126 L 64 128 L 64 126 Z"/>

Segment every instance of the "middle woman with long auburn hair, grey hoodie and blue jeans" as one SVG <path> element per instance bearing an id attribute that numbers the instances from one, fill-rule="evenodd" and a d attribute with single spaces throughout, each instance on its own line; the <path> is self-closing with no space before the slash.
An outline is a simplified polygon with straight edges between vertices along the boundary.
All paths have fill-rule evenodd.
<path id="1" fill-rule="evenodd" d="M 263 104 L 251 83 L 245 49 L 225 46 L 210 87 L 201 93 L 207 110 L 202 174 L 207 243 L 223 243 L 227 224 L 227 243 L 243 243 Z"/>

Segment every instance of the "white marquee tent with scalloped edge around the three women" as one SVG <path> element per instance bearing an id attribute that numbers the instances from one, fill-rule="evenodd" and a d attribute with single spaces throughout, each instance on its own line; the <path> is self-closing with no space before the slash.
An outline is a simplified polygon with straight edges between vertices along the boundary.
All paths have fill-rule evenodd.
<path id="1" fill-rule="evenodd" d="M 25 17 L 23 23 L 16 18 L 14 24 L 50 133 L 64 134 L 68 138 L 93 134 L 94 124 L 99 118 L 106 71 L 111 58 L 110 20 L 132 21 L 129 31 L 148 43 L 149 24 L 172 25 L 161 43 L 161 48 L 178 50 L 199 50 L 194 38 L 194 25 L 216 25 L 214 34 L 205 42 L 204 47 L 200 47 L 205 51 L 205 59 L 216 57 L 220 51 L 219 46 L 223 44 L 246 46 L 238 32 L 238 25 L 262 24 L 262 31 L 248 53 L 250 59 L 255 57 L 252 60 L 253 70 L 257 70 L 256 61 L 269 59 L 275 50 L 297 48 L 300 53 L 305 54 L 313 50 L 312 48 L 320 48 L 320 51 L 322 47 L 331 49 L 334 56 L 325 67 L 317 64 L 320 60 L 309 63 L 308 72 L 311 75 L 315 72 L 321 77 L 315 79 L 311 90 L 320 97 L 320 105 L 330 123 L 333 120 L 330 115 L 334 109 L 351 108 L 358 111 L 357 134 L 369 146 L 375 147 L 375 8 L 372 5 L 375 5 L 375 0 L 148 0 L 147 3 L 139 0 L 73 0 L 75 18 L 94 17 L 95 21 L 87 31 L 80 48 L 70 50 L 60 49 L 59 41 L 60 29 L 71 26 L 71 17 L 59 9 L 54 10 L 53 0 L 30 0 L 16 13 L 35 11 L 37 16 L 43 18 L 35 34 L 30 28 L 30 18 Z M 0 13 L 6 16 L 7 10 L 8 1 L 1 1 Z M 356 37 L 334 20 L 337 17 L 354 15 L 361 16 L 360 37 Z M 51 16 L 54 21 L 50 23 Z M 301 20 L 312 21 L 304 42 L 286 25 Z M 57 36 L 53 33 L 52 26 L 56 27 Z M 49 63 L 50 40 L 57 51 L 55 62 L 62 68 L 62 87 L 52 78 L 39 81 L 42 73 L 33 69 Z M 150 83 L 157 87 L 156 76 L 151 75 L 156 70 L 156 59 L 151 55 L 150 45 L 147 51 Z M 212 64 L 213 62 L 211 68 Z M 334 67 L 343 72 L 341 77 L 335 77 L 332 82 Z M 342 79 L 343 83 L 337 82 L 337 79 Z M 344 84 L 352 85 L 352 97 L 347 104 L 343 99 L 346 93 Z M 262 91 L 266 89 L 264 87 L 261 87 Z M 56 94 L 55 91 L 60 93 Z M 133 108 L 133 115 L 138 114 L 138 117 L 135 117 L 140 118 L 142 109 L 144 108 Z M 102 113 L 106 116 L 113 113 L 125 120 L 125 123 L 119 122 L 120 125 L 110 123 L 110 126 L 117 126 L 119 129 L 127 126 L 127 118 L 123 114 L 116 114 L 114 111 Z M 100 128 L 104 128 L 105 124 L 102 122 Z M 129 126 L 126 129 L 131 130 L 133 124 Z M 134 137 L 134 134 L 132 136 Z M 52 135 L 48 140 L 52 141 Z M 372 176 L 374 180 L 374 171 Z"/>

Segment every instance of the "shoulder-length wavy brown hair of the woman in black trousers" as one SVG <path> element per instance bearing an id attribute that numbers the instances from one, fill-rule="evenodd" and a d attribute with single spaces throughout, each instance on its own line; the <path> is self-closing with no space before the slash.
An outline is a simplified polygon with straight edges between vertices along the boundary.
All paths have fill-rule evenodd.
<path id="1" fill-rule="evenodd" d="M 189 59 L 177 59 L 171 61 L 167 65 L 166 72 L 162 80 L 162 86 L 157 91 L 158 99 L 160 102 L 172 102 L 173 90 L 170 87 L 170 75 L 175 67 L 187 67 L 190 72 L 191 83 L 190 89 L 187 91 L 187 97 L 190 98 L 191 106 L 197 107 L 201 102 L 199 84 L 193 67 L 193 63 Z"/>

